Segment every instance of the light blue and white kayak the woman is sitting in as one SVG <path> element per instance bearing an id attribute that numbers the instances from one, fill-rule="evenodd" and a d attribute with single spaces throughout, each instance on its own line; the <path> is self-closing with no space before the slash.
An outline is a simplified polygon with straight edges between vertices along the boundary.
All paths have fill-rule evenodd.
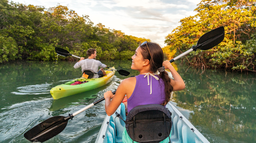
<path id="1" fill-rule="evenodd" d="M 209 141 L 181 114 L 181 112 L 175 108 L 170 102 L 166 105 L 166 108 L 172 112 L 172 143 L 209 143 Z M 125 120 L 125 106 L 123 103 L 118 107 L 117 113 Z M 125 123 L 116 118 L 116 114 L 105 117 L 99 134 L 96 139 L 96 143 L 110 143 L 110 142 L 122 142 L 122 133 L 125 127 Z M 116 122 L 116 123 L 115 123 Z M 116 136 L 117 130 L 117 136 Z"/>

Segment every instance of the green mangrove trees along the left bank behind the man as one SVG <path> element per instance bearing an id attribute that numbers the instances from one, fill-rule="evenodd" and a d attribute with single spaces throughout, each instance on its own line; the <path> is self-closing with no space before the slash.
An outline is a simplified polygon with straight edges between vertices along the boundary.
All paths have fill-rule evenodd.
<path id="1" fill-rule="evenodd" d="M 0 15 L 1 39 L 8 38 L 1 41 L 5 48 L 2 47 L 4 52 L 0 53 L 0 63 L 17 58 L 77 60 L 72 56 L 57 58 L 55 46 L 81 57 L 87 57 L 87 49 L 95 48 L 97 59 L 128 59 L 131 58 L 130 51 L 135 51 L 139 43 L 146 40 L 105 28 L 100 23 L 93 26 L 88 15 L 78 16 L 74 10 L 61 5 L 45 9 L 1 0 Z M 7 49 L 15 50 L 7 56 Z"/>

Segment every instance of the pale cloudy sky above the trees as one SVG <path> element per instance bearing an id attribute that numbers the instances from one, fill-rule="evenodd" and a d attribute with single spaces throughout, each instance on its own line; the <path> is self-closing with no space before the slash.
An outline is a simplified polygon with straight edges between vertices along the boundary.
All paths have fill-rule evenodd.
<path id="1" fill-rule="evenodd" d="M 94 25 L 120 30 L 125 35 L 150 39 L 162 47 L 165 37 L 194 16 L 201 0 L 9 0 L 25 5 L 52 8 L 67 6 L 79 16 L 88 15 Z"/>

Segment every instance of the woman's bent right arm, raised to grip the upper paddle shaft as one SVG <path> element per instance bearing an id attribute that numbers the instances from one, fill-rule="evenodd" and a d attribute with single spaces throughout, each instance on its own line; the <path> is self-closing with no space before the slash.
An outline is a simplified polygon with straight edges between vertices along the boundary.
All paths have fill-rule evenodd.
<path id="1" fill-rule="evenodd" d="M 171 79 L 171 85 L 173 87 L 173 91 L 182 90 L 185 88 L 185 83 L 183 79 L 181 78 L 180 74 L 174 69 L 170 61 L 166 60 L 163 62 L 163 66 L 165 69 L 169 69 L 171 71 L 171 74 L 173 76 L 173 79 Z"/>

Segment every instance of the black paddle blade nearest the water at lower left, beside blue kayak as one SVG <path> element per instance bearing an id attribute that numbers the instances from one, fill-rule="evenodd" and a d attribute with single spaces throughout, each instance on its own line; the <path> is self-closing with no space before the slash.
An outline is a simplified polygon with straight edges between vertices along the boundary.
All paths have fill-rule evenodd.
<path id="1" fill-rule="evenodd" d="M 66 119 L 65 119 L 66 118 Z M 54 116 L 34 126 L 24 134 L 24 137 L 31 142 L 44 142 L 62 132 L 70 118 Z"/>

